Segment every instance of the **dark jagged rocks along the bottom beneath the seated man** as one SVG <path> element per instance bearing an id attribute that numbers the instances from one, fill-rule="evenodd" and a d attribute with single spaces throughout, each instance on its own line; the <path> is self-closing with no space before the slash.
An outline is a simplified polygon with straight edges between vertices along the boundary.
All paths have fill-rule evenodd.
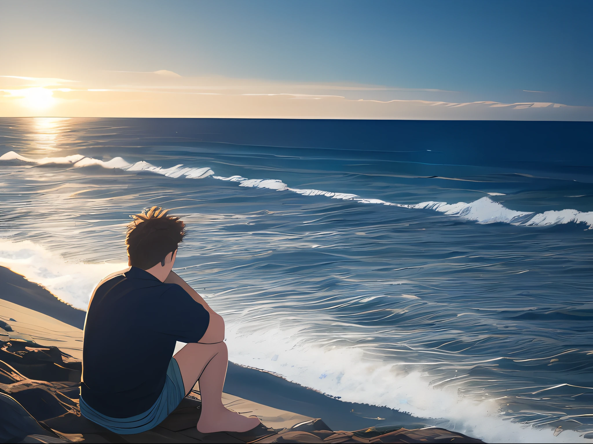
<path id="1" fill-rule="evenodd" d="M 196 429 L 202 403 L 191 396 L 184 398 L 154 429 L 136 435 L 118 435 L 81 416 L 79 362 L 56 347 L 43 347 L 33 342 L 0 345 L 0 356 L 6 359 L 0 361 L 0 442 L 482 443 L 479 439 L 437 427 L 413 430 L 371 427 L 336 432 L 321 419 L 297 424 L 291 429 L 274 430 L 262 424 L 244 433 L 204 434 Z M 61 381 L 56 379 L 60 376 L 64 377 Z"/>

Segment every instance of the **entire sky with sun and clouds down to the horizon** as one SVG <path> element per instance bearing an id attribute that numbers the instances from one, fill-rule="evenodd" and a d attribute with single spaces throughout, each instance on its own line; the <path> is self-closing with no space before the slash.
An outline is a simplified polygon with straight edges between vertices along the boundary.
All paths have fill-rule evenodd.
<path id="1" fill-rule="evenodd" d="M 593 120 L 591 23 L 592 1 L 0 0 L 0 115 Z"/>

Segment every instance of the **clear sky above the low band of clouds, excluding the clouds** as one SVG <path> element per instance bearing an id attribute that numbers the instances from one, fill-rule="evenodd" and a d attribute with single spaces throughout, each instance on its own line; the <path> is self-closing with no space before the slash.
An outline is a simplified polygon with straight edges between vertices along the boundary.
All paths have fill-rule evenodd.
<path id="1" fill-rule="evenodd" d="M 0 74 L 167 69 L 593 106 L 592 23 L 592 1 L 0 1 Z"/>

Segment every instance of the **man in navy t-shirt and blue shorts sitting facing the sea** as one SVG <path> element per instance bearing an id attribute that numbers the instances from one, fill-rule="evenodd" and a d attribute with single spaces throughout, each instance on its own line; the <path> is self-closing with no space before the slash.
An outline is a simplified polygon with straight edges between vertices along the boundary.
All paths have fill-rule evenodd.
<path id="1" fill-rule="evenodd" d="M 175 274 L 184 223 L 152 207 L 127 227 L 130 268 L 99 282 L 84 325 L 80 410 L 120 434 L 152 429 L 200 381 L 197 430 L 246 432 L 260 424 L 221 401 L 228 352 L 224 320 Z M 173 356 L 176 341 L 186 342 Z M 173 357 L 172 357 L 173 356 Z"/>

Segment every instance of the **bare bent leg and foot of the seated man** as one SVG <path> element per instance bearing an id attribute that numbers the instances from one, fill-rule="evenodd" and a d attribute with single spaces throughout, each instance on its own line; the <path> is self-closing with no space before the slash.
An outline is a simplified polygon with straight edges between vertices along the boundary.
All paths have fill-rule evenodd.
<path id="1" fill-rule="evenodd" d="M 215 344 L 190 343 L 179 350 L 175 359 L 183 377 L 186 394 L 200 381 L 202 414 L 197 430 L 212 432 L 247 432 L 260 420 L 227 410 L 222 404 L 222 387 L 227 376 L 228 351 L 224 342 Z"/>

